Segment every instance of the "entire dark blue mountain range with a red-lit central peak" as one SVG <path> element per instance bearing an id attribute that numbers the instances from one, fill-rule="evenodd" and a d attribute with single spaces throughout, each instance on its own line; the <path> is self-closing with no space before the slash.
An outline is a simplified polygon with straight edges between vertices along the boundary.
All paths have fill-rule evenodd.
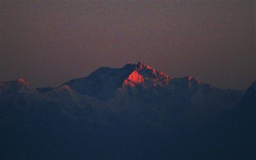
<path id="1" fill-rule="evenodd" d="M 256 82 L 246 92 L 138 64 L 60 87 L 0 83 L 3 159 L 255 159 Z"/>

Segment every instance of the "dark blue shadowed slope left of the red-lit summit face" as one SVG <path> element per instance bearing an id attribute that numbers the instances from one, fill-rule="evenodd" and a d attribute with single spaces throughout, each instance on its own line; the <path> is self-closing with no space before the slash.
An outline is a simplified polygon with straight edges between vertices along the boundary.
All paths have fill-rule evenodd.
<path id="1" fill-rule="evenodd" d="M 81 94 L 86 94 L 98 99 L 109 99 L 115 96 L 116 90 L 122 87 L 122 84 L 134 71 L 134 64 L 127 64 L 124 68 L 99 68 L 89 76 L 70 80 L 63 85 Z"/>

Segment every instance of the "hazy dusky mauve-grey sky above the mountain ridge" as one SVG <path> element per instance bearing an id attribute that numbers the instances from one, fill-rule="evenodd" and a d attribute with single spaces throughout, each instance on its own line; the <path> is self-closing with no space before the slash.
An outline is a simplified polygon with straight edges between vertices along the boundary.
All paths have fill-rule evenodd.
<path id="1" fill-rule="evenodd" d="M 143 61 L 222 88 L 256 80 L 254 1 L 0 1 L 0 81 L 57 86 Z"/>

